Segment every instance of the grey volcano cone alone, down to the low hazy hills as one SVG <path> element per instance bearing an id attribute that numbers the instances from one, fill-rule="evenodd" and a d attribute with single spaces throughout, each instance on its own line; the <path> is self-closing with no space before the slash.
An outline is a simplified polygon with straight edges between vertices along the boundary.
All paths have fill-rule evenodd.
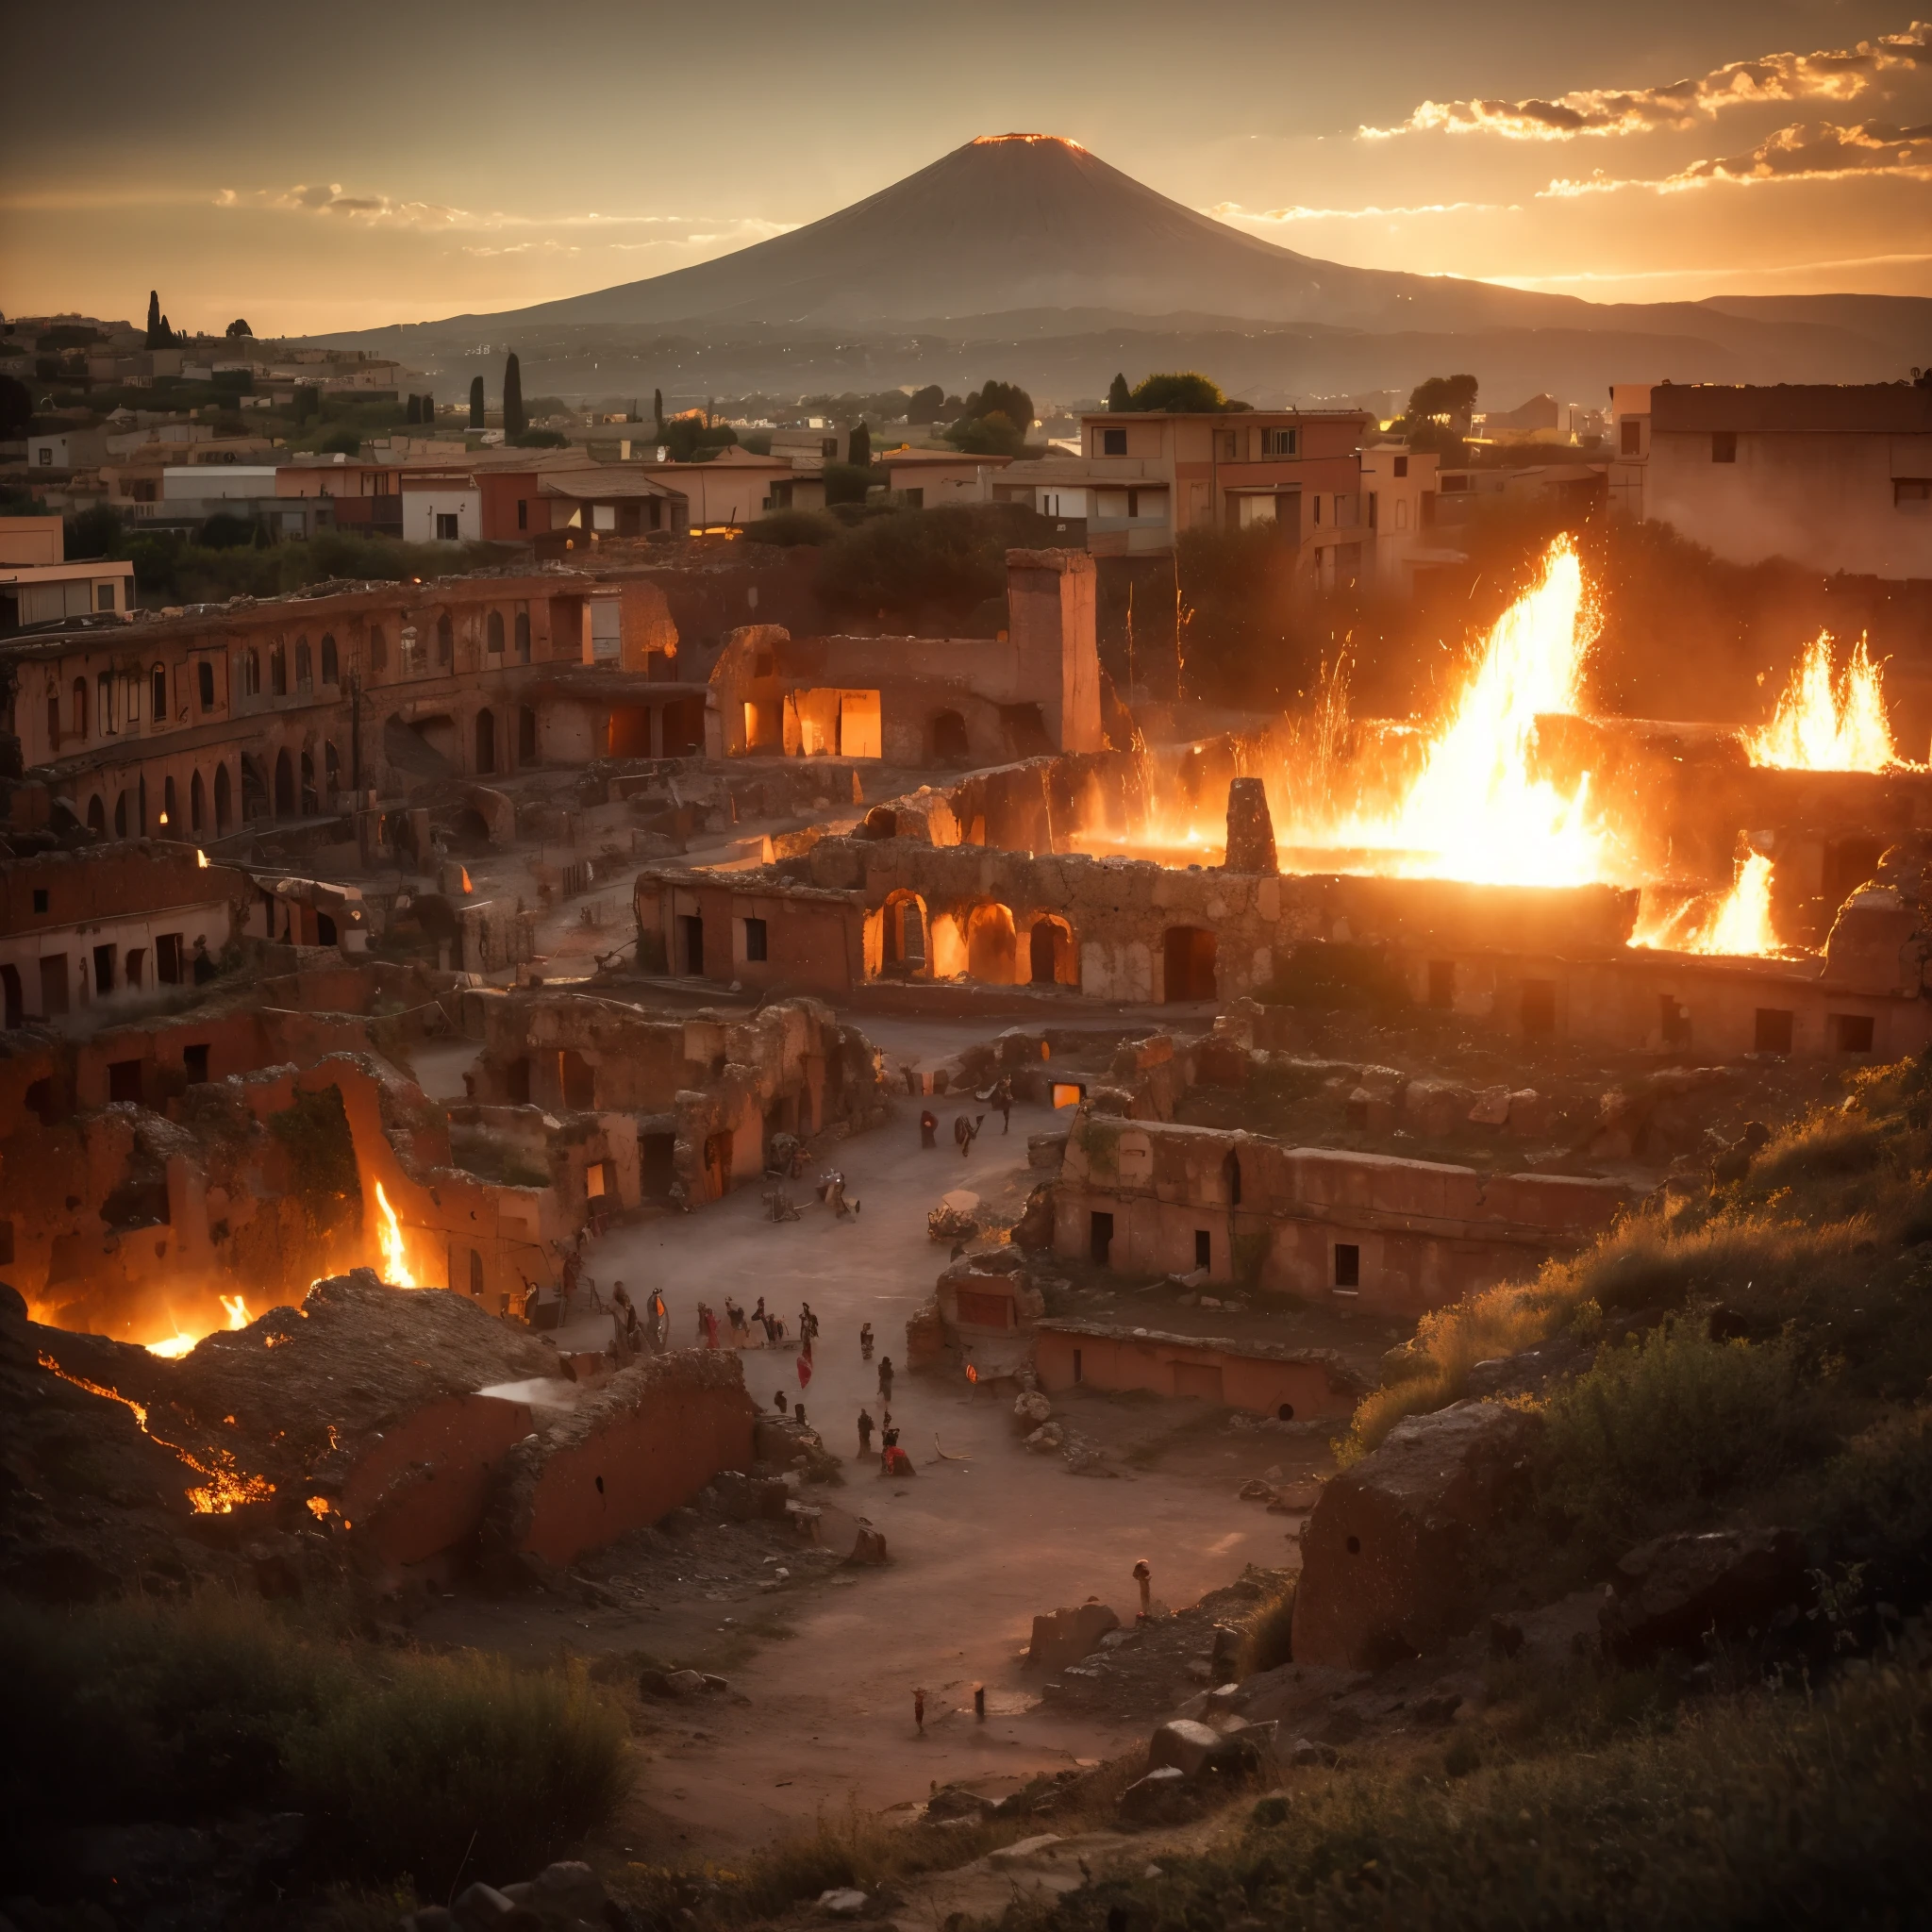
<path id="1" fill-rule="evenodd" d="M 506 319 L 837 327 L 1037 309 L 1376 330 L 1588 327 L 1590 315 L 1569 296 L 1296 255 L 1169 201 L 1076 141 L 1003 133 L 734 255 Z"/>

